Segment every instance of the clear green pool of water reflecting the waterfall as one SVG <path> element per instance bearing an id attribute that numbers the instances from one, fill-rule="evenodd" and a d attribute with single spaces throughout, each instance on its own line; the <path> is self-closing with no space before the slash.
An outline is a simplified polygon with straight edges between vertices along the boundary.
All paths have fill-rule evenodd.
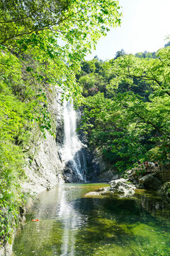
<path id="1" fill-rule="evenodd" d="M 13 254 L 169 256 L 169 204 L 146 191 L 131 198 L 86 196 L 103 186 L 61 184 L 40 193 L 18 229 Z"/>

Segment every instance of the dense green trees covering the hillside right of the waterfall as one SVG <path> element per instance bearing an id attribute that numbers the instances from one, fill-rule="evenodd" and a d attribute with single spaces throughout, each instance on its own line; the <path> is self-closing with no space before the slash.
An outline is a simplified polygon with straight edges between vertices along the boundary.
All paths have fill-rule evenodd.
<path id="1" fill-rule="evenodd" d="M 156 58 L 155 58 L 156 56 Z M 157 53 L 96 58 L 81 65 L 83 127 L 113 169 L 170 159 L 170 47 Z"/>

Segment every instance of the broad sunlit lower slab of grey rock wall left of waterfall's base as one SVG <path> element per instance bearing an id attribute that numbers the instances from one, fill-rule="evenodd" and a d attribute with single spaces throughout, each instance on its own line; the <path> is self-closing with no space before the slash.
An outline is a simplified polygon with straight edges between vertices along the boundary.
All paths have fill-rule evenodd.
<path id="1" fill-rule="evenodd" d="M 55 137 L 46 133 L 34 148 L 33 160 L 27 159 L 26 181 L 22 184 L 24 191 L 40 192 L 63 182 L 62 163 L 58 155 Z"/>

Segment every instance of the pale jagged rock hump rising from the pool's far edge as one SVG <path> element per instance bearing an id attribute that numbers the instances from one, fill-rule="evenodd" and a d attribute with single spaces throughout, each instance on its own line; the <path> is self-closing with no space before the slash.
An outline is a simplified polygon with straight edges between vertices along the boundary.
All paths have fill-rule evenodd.
<path id="1" fill-rule="evenodd" d="M 113 193 L 123 193 L 124 196 L 132 195 L 135 193 L 135 186 L 128 183 L 125 178 L 119 178 L 110 182 L 110 191 Z"/>

